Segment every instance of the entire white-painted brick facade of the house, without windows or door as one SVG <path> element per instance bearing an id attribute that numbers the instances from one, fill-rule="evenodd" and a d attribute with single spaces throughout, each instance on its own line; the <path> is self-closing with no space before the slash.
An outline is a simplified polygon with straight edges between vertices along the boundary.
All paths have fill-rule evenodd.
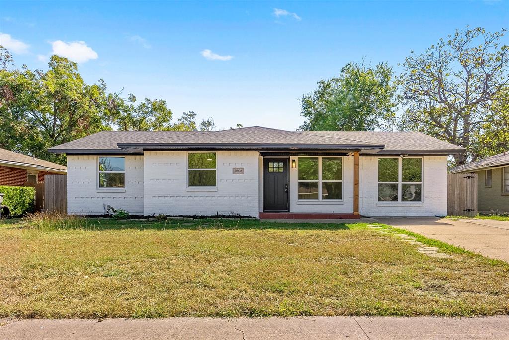
<path id="1" fill-rule="evenodd" d="M 290 160 L 291 164 L 291 160 Z M 353 157 L 344 157 L 342 204 L 297 204 L 297 169 L 290 168 L 290 211 L 351 213 Z M 378 202 L 378 158 L 360 157 L 360 213 L 367 216 L 432 216 L 447 214 L 447 157 L 423 157 L 423 202 Z M 232 167 L 244 167 L 233 175 Z M 258 217 L 263 209 L 263 158 L 254 151 L 217 152 L 217 190 L 189 191 L 186 152 L 146 152 L 126 156 L 124 192 L 97 188 L 97 156 L 68 156 L 69 214 L 103 214 L 104 204 L 131 214 L 215 215 Z"/>

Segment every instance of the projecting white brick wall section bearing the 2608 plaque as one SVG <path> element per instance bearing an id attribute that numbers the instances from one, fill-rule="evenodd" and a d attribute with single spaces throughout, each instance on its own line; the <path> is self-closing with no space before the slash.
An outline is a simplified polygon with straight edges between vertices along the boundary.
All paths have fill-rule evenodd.
<path id="1" fill-rule="evenodd" d="M 256 151 L 218 151 L 216 191 L 195 191 L 187 188 L 185 151 L 145 152 L 145 214 L 258 217 L 259 156 Z M 233 167 L 244 167 L 244 175 L 233 175 Z"/>

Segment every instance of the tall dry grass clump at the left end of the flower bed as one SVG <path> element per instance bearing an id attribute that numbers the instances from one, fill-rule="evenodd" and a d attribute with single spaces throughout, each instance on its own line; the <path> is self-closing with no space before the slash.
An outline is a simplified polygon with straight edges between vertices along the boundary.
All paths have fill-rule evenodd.
<path id="1" fill-rule="evenodd" d="M 36 212 L 24 218 L 30 228 L 42 231 L 80 229 L 88 225 L 86 218 L 58 211 Z"/>

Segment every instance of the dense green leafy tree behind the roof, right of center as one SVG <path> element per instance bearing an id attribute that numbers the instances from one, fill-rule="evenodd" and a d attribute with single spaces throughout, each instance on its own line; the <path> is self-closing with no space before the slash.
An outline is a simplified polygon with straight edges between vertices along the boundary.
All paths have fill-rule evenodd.
<path id="1" fill-rule="evenodd" d="M 302 96 L 301 130 L 373 131 L 394 124 L 395 86 L 387 63 L 375 67 L 348 63 L 339 76 L 318 81 Z"/>

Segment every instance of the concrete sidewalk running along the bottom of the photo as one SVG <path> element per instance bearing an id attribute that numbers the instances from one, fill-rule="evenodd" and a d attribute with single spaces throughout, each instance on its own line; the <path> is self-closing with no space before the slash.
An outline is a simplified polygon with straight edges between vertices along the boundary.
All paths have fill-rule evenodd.
<path id="1" fill-rule="evenodd" d="M 0 320 L 0 339 L 506 339 L 509 317 Z"/>

